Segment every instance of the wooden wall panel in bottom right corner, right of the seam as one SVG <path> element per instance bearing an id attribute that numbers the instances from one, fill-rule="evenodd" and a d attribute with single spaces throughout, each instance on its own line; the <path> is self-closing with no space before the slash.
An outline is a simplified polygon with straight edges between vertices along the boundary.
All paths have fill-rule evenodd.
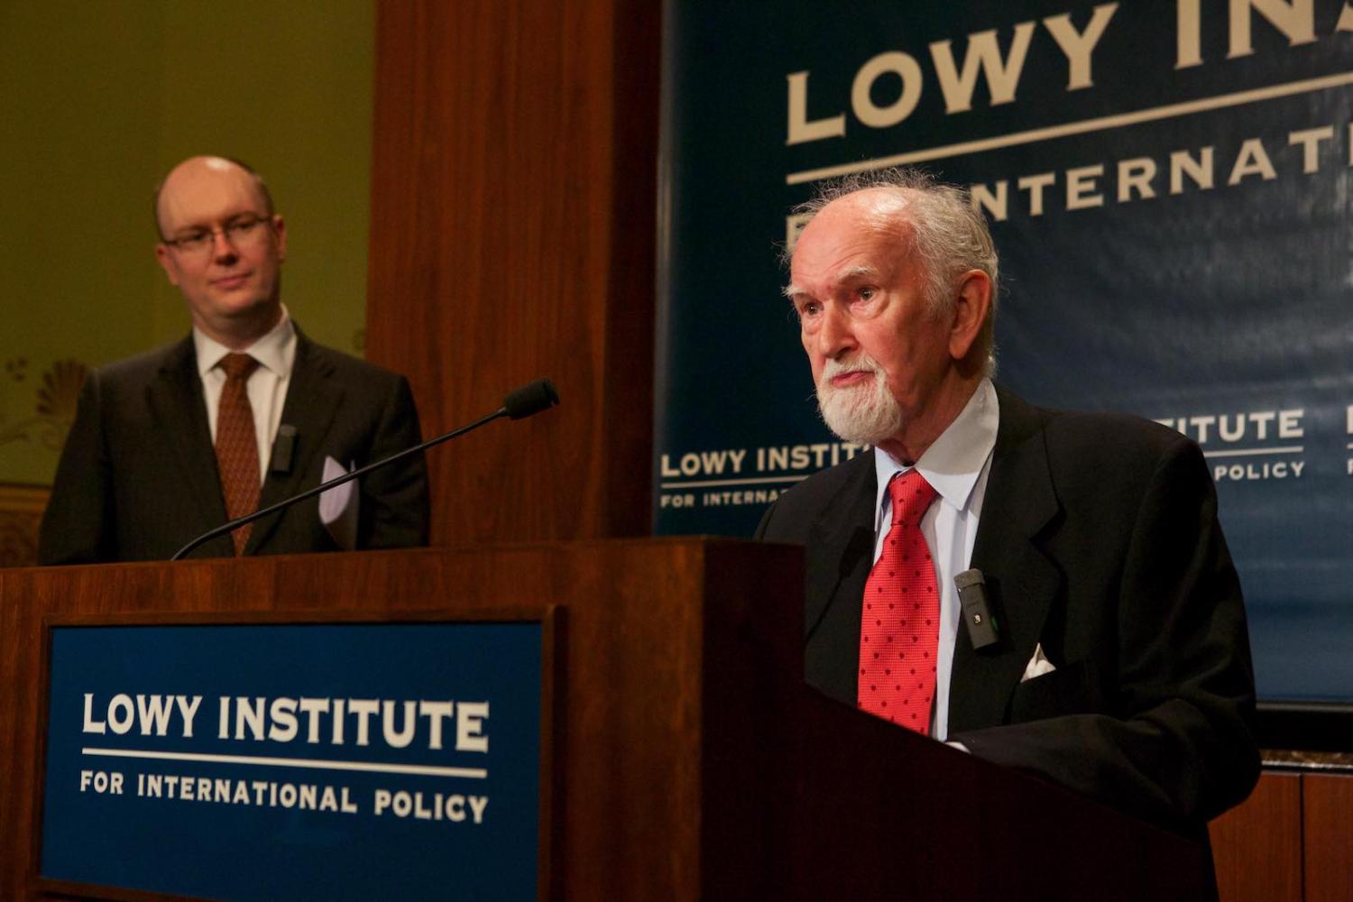
<path id="1" fill-rule="evenodd" d="M 1306 902 L 1353 902 L 1353 776 L 1302 776 Z"/>

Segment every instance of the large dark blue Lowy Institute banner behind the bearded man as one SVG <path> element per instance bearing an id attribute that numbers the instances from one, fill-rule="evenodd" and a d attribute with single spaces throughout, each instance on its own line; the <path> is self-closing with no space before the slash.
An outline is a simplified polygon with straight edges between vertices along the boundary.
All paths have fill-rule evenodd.
<path id="1" fill-rule="evenodd" d="M 781 288 L 832 176 L 969 187 L 999 381 L 1196 440 L 1265 699 L 1353 702 L 1353 5 L 678 0 L 667 15 L 655 529 L 748 534 L 856 453 Z"/>

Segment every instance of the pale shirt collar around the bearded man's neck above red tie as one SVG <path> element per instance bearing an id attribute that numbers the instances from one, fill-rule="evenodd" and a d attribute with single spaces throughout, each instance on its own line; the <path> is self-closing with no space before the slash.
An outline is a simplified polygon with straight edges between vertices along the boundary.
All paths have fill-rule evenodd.
<path id="1" fill-rule="evenodd" d="M 990 379 L 984 379 L 967 399 L 963 411 L 916 461 L 916 469 L 925 481 L 934 485 L 944 503 L 955 510 L 967 508 L 973 487 L 977 485 L 977 479 L 982 475 L 992 449 L 996 448 L 999 426 L 1000 407 L 996 402 L 996 387 Z M 878 485 L 874 496 L 875 529 L 884 515 L 888 483 L 897 473 L 912 468 L 902 465 L 884 449 L 874 449 L 874 473 Z"/>

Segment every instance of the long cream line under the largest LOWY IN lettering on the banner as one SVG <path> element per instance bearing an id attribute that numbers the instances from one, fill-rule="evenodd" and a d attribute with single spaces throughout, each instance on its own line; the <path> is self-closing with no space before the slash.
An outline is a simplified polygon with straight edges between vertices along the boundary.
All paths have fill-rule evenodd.
<path id="1" fill-rule="evenodd" d="M 1207 112 L 1208 110 L 1224 110 L 1227 107 L 1239 107 L 1247 103 L 1273 100 L 1275 97 L 1291 97 L 1292 95 L 1310 93 L 1312 91 L 1325 91 L 1326 88 L 1339 88 L 1348 84 L 1353 84 L 1353 72 L 1341 72 L 1333 76 L 1323 76 L 1321 78 L 1307 78 L 1304 81 L 1289 81 L 1285 85 L 1269 85 L 1266 88 L 1254 88 L 1252 91 L 1238 91 L 1235 93 L 1220 95 L 1218 97 L 1203 97 L 1200 100 L 1172 103 L 1165 107 L 1151 107 L 1150 110 L 1138 110 L 1135 112 L 1120 112 L 1112 116 L 1086 119 L 1084 122 L 1069 122 L 1062 126 L 1047 126 L 1046 128 L 1031 128 L 1030 131 L 1016 131 L 1008 135 L 996 135 L 993 138 L 965 141 L 957 145 L 944 145 L 942 147 L 927 147 L 924 150 L 912 150 L 911 153 L 900 153 L 892 157 L 875 157 L 874 160 L 861 160 L 858 162 L 850 162 L 840 166 L 827 166 L 824 169 L 805 169 L 804 172 L 793 172 L 785 176 L 785 184 L 798 185 L 805 181 L 817 181 L 819 179 L 832 179 L 835 176 L 848 176 L 855 172 L 873 172 L 874 169 L 888 169 L 889 166 L 905 166 L 915 162 L 927 162 L 930 160 L 944 160 L 946 157 L 958 157 L 961 154 L 967 154 L 967 153 L 981 153 L 984 150 L 997 150 L 1000 147 L 1016 147 L 1019 145 L 1031 145 L 1039 141 L 1066 138 L 1068 135 L 1084 135 L 1095 131 L 1108 131 L 1111 128 L 1123 128 L 1124 126 L 1137 126 L 1143 122 L 1174 119 L 1176 116 L 1188 116 L 1195 112 Z"/>

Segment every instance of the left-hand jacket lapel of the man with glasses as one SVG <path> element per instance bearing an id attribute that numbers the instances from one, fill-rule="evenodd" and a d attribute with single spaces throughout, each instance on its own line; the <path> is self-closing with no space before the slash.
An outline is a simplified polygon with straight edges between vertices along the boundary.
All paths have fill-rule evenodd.
<path id="1" fill-rule="evenodd" d="M 202 511 L 202 530 L 226 522 L 226 502 L 221 495 L 221 476 L 216 473 L 216 452 L 211 444 L 207 406 L 198 376 L 198 354 L 192 337 L 169 349 L 160 373 L 146 388 L 146 407 L 161 427 L 165 441 L 173 448 L 173 457 L 188 491 L 184 503 Z M 187 544 L 192 536 L 184 536 Z M 229 540 L 216 540 L 227 542 Z M 223 553 L 208 545 L 212 553 Z M 230 549 L 229 553 L 233 553 Z"/>

